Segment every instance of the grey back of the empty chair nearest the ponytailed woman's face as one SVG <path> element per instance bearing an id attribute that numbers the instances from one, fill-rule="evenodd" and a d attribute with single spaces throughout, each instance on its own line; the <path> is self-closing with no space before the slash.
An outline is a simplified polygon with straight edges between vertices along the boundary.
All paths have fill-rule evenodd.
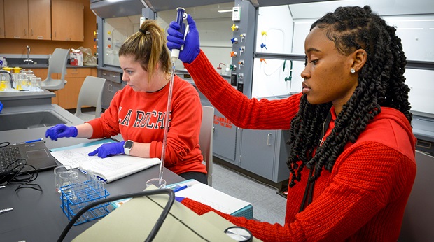
<path id="1" fill-rule="evenodd" d="M 106 79 L 104 78 L 86 76 L 83 85 L 81 85 L 80 94 L 78 94 L 77 110 L 74 115 L 84 121 L 93 120 L 94 118 L 101 116 L 102 92 L 105 83 Z M 95 114 L 82 113 L 81 108 L 83 106 L 95 107 Z"/>

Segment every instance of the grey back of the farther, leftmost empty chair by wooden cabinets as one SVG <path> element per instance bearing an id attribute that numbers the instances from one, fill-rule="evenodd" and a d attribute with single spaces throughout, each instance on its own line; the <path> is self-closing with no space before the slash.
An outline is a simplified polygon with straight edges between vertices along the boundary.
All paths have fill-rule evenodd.
<path id="1" fill-rule="evenodd" d="M 56 48 L 48 60 L 47 78 L 42 82 L 42 87 L 47 90 L 59 90 L 65 86 L 66 63 L 68 62 L 69 49 Z M 61 73 L 60 79 L 53 79 L 53 73 Z"/>

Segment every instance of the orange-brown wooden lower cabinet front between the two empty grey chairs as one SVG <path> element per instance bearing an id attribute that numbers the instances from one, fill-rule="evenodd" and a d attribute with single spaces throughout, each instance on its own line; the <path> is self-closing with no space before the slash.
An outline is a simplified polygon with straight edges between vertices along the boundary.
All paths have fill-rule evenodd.
<path id="1" fill-rule="evenodd" d="M 57 78 L 60 78 L 61 74 Z M 86 76 L 90 75 L 90 68 L 68 68 L 66 69 L 64 89 L 59 90 L 59 106 L 65 109 L 77 108 L 78 95 L 81 85 Z"/>

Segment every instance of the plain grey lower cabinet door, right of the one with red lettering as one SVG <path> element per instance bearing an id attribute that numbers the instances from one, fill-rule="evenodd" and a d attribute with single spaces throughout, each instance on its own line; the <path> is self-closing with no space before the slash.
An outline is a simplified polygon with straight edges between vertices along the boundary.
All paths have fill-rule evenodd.
<path id="1" fill-rule="evenodd" d="M 274 180 L 275 148 L 276 130 L 243 129 L 239 166 L 268 180 Z"/>

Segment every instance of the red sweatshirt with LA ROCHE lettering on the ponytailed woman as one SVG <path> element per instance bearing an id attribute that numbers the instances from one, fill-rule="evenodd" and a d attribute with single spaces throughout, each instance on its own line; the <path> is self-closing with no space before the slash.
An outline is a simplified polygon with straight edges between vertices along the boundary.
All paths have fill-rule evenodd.
<path id="1" fill-rule="evenodd" d="M 151 143 L 151 158 L 161 158 L 165 133 L 169 85 L 158 92 L 135 92 L 130 86 L 116 92 L 101 118 L 89 122 L 91 138 L 122 134 L 124 140 Z M 172 90 L 172 114 L 167 133 L 165 166 L 174 173 L 207 173 L 199 148 L 202 104 L 195 87 L 175 76 Z"/>

